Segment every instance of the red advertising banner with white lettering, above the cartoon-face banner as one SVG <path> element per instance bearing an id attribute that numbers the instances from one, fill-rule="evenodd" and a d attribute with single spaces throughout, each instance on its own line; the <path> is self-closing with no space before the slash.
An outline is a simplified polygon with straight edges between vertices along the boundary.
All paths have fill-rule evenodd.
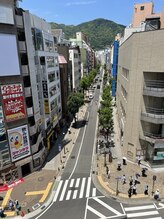
<path id="1" fill-rule="evenodd" d="M 22 84 L 1 86 L 4 116 L 7 122 L 25 118 L 25 106 Z"/>

